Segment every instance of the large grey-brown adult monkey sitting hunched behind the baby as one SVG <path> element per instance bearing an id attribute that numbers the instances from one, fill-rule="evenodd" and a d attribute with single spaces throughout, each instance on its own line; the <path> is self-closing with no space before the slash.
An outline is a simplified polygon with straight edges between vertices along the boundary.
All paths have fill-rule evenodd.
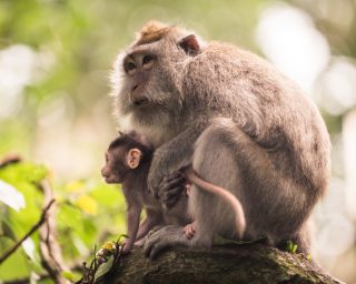
<path id="1" fill-rule="evenodd" d="M 291 240 L 308 251 L 306 223 L 328 185 L 330 143 L 317 109 L 294 82 L 247 51 L 205 44 L 159 22 L 147 23 L 119 54 L 111 79 L 121 129 L 137 130 L 157 148 L 148 178 L 156 195 L 179 196 L 179 169 L 192 163 L 241 202 L 244 240 L 267 237 L 275 246 Z M 215 234 L 237 237 L 221 199 L 194 187 L 188 203 L 195 236 L 166 226 L 146 241 L 147 256 L 168 246 L 210 246 Z"/>

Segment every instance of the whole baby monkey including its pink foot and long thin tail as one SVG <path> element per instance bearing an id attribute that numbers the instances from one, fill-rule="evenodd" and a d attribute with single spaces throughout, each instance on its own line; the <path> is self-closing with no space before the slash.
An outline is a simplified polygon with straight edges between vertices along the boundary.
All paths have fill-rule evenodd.
<path id="1" fill-rule="evenodd" d="M 169 224 L 167 215 L 160 202 L 149 194 L 147 178 L 154 149 L 145 136 L 132 131 L 120 133 L 106 152 L 106 164 L 101 174 L 107 183 L 121 183 L 126 199 L 128 215 L 128 239 L 123 246 L 123 253 L 130 252 L 136 240 L 140 240 L 156 225 Z M 236 231 L 241 236 L 245 231 L 245 214 L 240 202 L 229 191 L 216 186 L 200 179 L 191 166 L 181 170 L 182 176 L 187 180 L 188 186 L 197 185 L 200 189 L 217 194 L 226 200 L 233 207 L 236 216 Z M 194 189 L 196 190 L 196 189 Z M 146 220 L 139 225 L 142 209 L 146 210 Z M 178 211 L 181 214 L 181 211 Z M 180 223 L 187 220 L 186 216 L 178 216 Z M 185 223 L 187 224 L 187 222 Z M 184 227 L 186 237 L 195 235 L 195 223 Z"/>

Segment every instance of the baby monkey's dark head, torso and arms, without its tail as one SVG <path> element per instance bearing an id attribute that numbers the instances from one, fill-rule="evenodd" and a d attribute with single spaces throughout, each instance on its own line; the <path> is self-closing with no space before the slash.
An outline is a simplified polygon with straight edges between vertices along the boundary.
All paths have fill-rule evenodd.
<path id="1" fill-rule="evenodd" d="M 152 154 L 150 143 L 136 132 L 120 133 L 106 152 L 106 164 L 101 175 L 107 183 L 122 184 L 127 203 L 128 239 L 123 253 L 130 252 L 135 241 L 146 236 L 154 226 L 164 224 L 161 204 L 147 189 Z M 144 207 L 147 217 L 139 225 Z"/>

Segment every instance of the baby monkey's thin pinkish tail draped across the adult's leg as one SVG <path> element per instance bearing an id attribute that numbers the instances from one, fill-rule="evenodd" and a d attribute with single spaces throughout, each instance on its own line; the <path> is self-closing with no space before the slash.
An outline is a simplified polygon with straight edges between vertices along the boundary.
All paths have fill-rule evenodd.
<path id="1" fill-rule="evenodd" d="M 217 186 L 215 184 L 211 184 L 205 180 L 202 180 L 191 166 L 188 166 L 184 170 L 184 174 L 186 178 L 201 187 L 202 190 L 206 190 L 208 192 L 211 192 L 216 195 L 219 195 L 225 200 L 227 203 L 229 203 L 234 210 L 235 213 L 235 223 L 236 223 L 236 231 L 239 235 L 239 237 L 243 237 L 245 229 L 246 229 L 246 220 L 245 220 L 245 213 L 244 209 L 241 206 L 241 203 L 239 200 L 230 193 L 228 190 Z"/>

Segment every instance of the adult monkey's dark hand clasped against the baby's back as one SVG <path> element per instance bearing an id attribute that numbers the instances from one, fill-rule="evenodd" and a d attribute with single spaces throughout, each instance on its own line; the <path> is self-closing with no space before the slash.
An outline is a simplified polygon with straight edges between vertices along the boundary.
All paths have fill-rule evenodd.
<path id="1" fill-rule="evenodd" d="M 158 195 L 164 207 L 169 210 L 178 202 L 179 197 L 185 192 L 186 184 L 187 181 L 180 171 L 166 176 L 161 181 Z"/>

